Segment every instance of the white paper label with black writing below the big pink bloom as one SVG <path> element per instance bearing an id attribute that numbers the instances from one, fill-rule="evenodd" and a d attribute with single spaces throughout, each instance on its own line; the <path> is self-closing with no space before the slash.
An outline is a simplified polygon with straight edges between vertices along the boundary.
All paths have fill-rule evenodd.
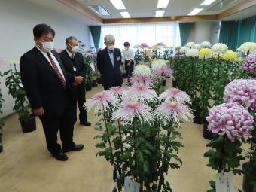
<path id="1" fill-rule="evenodd" d="M 233 174 L 221 172 L 216 175 L 216 192 L 234 192 Z"/>

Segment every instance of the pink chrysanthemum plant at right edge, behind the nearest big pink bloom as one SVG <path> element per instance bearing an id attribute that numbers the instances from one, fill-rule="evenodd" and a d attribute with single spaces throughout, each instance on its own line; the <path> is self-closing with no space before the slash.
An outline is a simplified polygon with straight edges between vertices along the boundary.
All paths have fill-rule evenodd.
<path id="1" fill-rule="evenodd" d="M 242 165 L 244 171 L 243 190 L 252 192 L 256 190 L 256 80 L 254 79 L 237 79 L 225 87 L 224 100 L 226 102 L 236 102 L 248 109 L 254 117 L 254 130 L 251 138 L 244 139 L 245 143 L 250 145 L 249 151 L 245 150 L 245 157 L 248 162 Z"/>

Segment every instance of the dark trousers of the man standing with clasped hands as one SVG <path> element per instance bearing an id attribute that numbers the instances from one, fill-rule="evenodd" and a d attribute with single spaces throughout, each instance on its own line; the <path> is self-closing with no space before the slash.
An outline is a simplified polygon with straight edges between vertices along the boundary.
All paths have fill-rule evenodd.
<path id="1" fill-rule="evenodd" d="M 85 85 L 83 87 L 77 87 L 77 100 L 78 100 L 77 102 L 78 102 L 78 108 L 80 111 L 79 120 L 81 122 L 86 122 L 87 121 L 87 110 L 84 108 L 84 103 L 86 102 Z M 75 106 L 77 108 L 77 105 L 75 105 Z M 77 114 L 77 113 L 75 113 L 75 114 Z"/>

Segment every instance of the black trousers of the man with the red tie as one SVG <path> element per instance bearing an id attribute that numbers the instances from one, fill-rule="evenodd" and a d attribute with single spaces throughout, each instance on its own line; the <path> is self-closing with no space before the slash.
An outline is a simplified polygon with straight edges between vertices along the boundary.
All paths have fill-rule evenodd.
<path id="1" fill-rule="evenodd" d="M 65 110 L 59 117 L 50 117 L 43 114 L 40 118 L 44 128 L 44 135 L 47 143 L 47 149 L 51 154 L 56 154 L 62 151 L 62 148 L 72 148 L 75 143 L 73 142 L 73 130 L 75 124 L 74 105 L 67 102 Z M 60 133 L 61 145 L 57 143 L 57 133 Z"/>

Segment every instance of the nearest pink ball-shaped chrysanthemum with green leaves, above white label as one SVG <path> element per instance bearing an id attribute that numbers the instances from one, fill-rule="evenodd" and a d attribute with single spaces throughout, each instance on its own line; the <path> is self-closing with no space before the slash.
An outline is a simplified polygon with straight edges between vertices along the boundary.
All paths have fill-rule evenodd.
<path id="1" fill-rule="evenodd" d="M 208 129 L 216 133 L 212 141 L 206 145 L 211 149 L 204 156 L 209 158 L 207 166 L 218 173 L 242 174 L 238 169 L 242 156 L 241 137 L 251 137 L 253 117 L 242 106 L 236 103 L 224 103 L 209 110 L 206 117 Z M 217 134 L 218 133 L 218 134 Z M 210 181 L 215 191 L 215 182 Z"/>

